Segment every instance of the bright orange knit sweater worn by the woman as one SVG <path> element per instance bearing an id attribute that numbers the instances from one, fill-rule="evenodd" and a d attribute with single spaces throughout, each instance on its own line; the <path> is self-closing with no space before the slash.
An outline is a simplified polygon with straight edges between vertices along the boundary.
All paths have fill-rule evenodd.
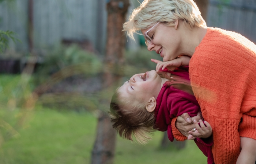
<path id="1" fill-rule="evenodd" d="M 208 28 L 189 62 L 189 77 L 212 126 L 215 164 L 235 164 L 240 136 L 256 140 L 256 45 L 235 32 Z M 175 121 L 174 137 L 187 139 Z"/>

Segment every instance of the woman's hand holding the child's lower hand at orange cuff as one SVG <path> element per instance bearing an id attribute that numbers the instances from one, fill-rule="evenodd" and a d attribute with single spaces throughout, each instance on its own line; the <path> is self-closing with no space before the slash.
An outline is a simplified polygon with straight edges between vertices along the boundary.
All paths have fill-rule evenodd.
<path id="1" fill-rule="evenodd" d="M 177 117 L 177 120 L 175 122 L 176 128 L 183 134 L 184 136 L 189 136 L 189 131 L 196 128 L 195 124 L 192 122 L 192 120 L 199 121 L 201 119 L 201 113 L 198 112 L 197 116 L 190 117 L 188 113 L 183 113 L 181 116 Z M 191 140 L 194 140 L 196 137 L 192 137 Z"/>

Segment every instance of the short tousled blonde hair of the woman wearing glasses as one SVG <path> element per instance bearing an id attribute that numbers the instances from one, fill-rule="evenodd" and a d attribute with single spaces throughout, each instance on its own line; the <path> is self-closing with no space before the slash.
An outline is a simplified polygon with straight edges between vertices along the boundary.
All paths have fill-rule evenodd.
<path id="1" fill-rule="evenodd" d="M 157 22 L 174 26 L 175 20 L 183 20 L 192 27 L 207 27 L 193 0 L 144 0 L 133 10 L 129 21 L 123 25 L 123 31 L 134 40 L 133 33 L 146 29 Z"/>

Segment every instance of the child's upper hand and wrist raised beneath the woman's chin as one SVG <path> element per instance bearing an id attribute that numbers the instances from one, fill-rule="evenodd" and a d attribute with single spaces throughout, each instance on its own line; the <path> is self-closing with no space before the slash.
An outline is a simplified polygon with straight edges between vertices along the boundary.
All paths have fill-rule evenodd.
<path id="1" fill-rule="evenodd" d="M 173 71 L 180 66 L 188 66 L 190 59 L 191 58 L 189 56 L 178 56 L 176 59 L 167 62 L 162 62 L 156 59 L 151 59 L 151 61 L 157 63 L 157 67 L 155 70 L 158 73 L 161 68 L 162 70 L 167 68 L 168 70 Z"/>

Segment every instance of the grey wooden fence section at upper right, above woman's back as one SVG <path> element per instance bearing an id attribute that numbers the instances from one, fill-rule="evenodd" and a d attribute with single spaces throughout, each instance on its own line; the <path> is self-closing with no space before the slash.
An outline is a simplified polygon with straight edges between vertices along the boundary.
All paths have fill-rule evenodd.
<path id="1" fill-rule="evenodd" d="M 236 31 L 256 42 L 256 0 L 210 0 L 208 27 Z"/>

